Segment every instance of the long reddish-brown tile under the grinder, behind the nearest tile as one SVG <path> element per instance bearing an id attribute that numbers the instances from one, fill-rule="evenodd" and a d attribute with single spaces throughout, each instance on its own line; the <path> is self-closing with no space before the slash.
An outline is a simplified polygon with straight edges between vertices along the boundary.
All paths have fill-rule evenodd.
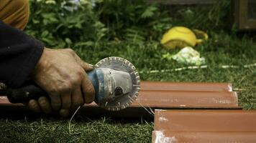
<path id="1" fill-rule="evenodd" d="M 1 106 L 23 106 L 11 104 L 6 97 L 0 98 Z M 186 83 L 186 82 L 141 82 L 141 91 L 137 101 L 119 112 L 118 116 L 141 117 L 150 115 L 151 109 L 237 109 L 237 93 L 232 92 L 232 86 L 228 83 Z M 95 103 L 86 104 L 81 110 L 86 114 L 110 114 L 116 116 L 116 112 L 107 112 L 97 107 Z"/>

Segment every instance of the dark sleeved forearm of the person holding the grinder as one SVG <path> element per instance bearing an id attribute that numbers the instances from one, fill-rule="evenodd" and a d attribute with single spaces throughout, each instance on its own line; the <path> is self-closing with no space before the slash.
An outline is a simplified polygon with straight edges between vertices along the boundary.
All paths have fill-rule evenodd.
<path id="1" fill-rule="evenodd" d="M 44 45 L 0 21 L 0 82 L 19 87 L 40 59 Z"/>

